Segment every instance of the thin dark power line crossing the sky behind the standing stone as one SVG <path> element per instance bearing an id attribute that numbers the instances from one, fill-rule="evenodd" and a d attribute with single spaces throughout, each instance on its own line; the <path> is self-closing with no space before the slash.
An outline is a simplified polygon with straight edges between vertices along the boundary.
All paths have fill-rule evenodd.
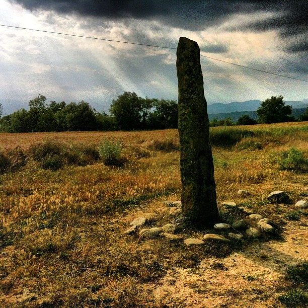
<path id="1" fill-rule="evenodd" d="M 124 43 L 124 44 L 139 45 L 139 46 L 146 46 L 146 47 L 164 48 L 164 49 L 175 49 L 175 50 L 177 49 L 176 47 L 159 46 L 159 45 L 149 45 L 149 44 L 141 44 L 141 43 L 126 42 L 126 41 L 117 41 L 117 40 L 103 39 L 103 38 L 98 38 L 98 37 L 93 37 L 93 36 L 84 36 L 84 35 L 68 34 L 68 33 L 62 33 L 62 32 L 54 32 L 54 31 L 30 29 L 30 28 L 24 28 L 24 27 L 2 25 L 2 24 L 0 24 L 0 26 L 2 26 L 2 27 L 8 27 L 8 28 L 22 29 L 22 30 L 37 31 L 37 32 L 45 32 L 45 33 L 52 33 L 52 34 L 60 34 L 60 35 L 66 35 L 66 36 L 74 36 L 74 37 L 88 38 L 88 39 L 101 40 L 101 41 L 107 41 L 107 42 L 116 42 L 116 43 Z M 290 76 L 286 76 L 286 75 L 281 75 L 281 74 L 277 74 L 277 73 L 273 73 L 273 72 L 270 72 L 270 71 L 266 71 L 266 70 L 262 70 L 262 69 L 257 69 L 257 68 L 253 68 L 253 67 L 249 67 L 249 66 L 245 66 L 245 65 L 241 65 L 241 64 L 236 64 L 236 63 L 233 63 L 233 62 L 228 62 L 228 61 L 224 61 L 224 60 L 212 58 L 212 57 L 209 57 L 209 56 L 205 56 L 205 55 L 203 55 L 203 54 L 200 54 L 200 55 L 201 55 L 202 57 L 205 57 L 205 58 L 208 58 L 208 59 L 212 59 L 212 60 L 215 60 L 215 61 L 220 61 L 220 62 L 224 62 L 224 63 L 228 63 L 228 64 L 232 64 L 232 65 L 236 65 L 236 66 L 240 66 L 240 67 L 244 67 L 244 68 L 249 68 L 249 69 L 252 69 L 252 70 L 256 70 L 256 71 L 260 71 L 260 72 L 264 72 L 264 73 L 267 73 L 267 74 L 276 75 L 276 76 L 280 76 L 280 77 L 284 77 L 284 78 L 288 78 L 288 79 L 293 79 L 293 80 L 308 82 L 307 80 L 303 80 L 303 79 L 299 79 L 299 78 L 294 78 L 294 77 L 290 77 Z"/>

